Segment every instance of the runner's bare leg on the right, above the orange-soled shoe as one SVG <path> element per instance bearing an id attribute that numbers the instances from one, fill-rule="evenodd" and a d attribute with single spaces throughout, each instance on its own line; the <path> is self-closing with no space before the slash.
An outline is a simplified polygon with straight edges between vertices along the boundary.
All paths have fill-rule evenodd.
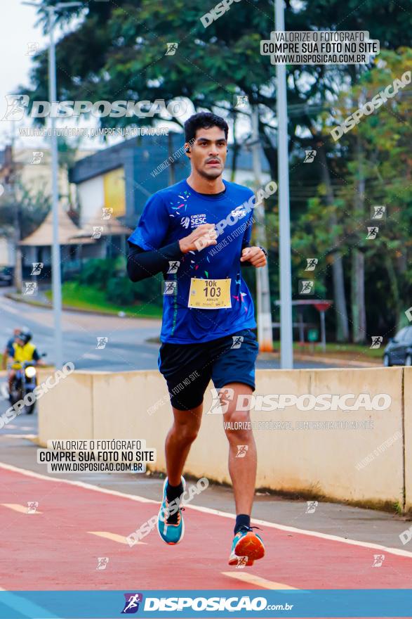
<path id="1" fill-rule="evenodd" d="M 233 398 L 228 401 L 227 411 L 223 415 L 225 423 L 231 422 L 230 426 L 225 428 L 225 433 L 229 441 L 229 473 L 232 479 L 234 503 L 237 514 L 245 513 L 250 516 L 255 494 L 258 459 L 253 432 L 251 427 L 248 427 L 251 426 L 250 413 L 248 410 L 237 411 L 236 406 L 238 395 L 251 396 L 253 392 L 251 387 L 243 383 L 230 383 L 220 390 L 221 400 L 224 400 L 225 403 L 227 402 L 225 398 L 225 390 L 227 389 L 234 391 Z M 239 429 L 235 429 L 236 422 L 240 422 Z M 238 445 L 244 446 L 242 449 L 245 453 L 244 457 L 237 457 Z"/>

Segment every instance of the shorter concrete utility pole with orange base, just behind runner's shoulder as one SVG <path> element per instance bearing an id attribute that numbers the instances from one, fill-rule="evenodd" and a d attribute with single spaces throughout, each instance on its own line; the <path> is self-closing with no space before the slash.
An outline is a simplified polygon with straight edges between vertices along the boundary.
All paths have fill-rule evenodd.
<path id="1" fill-rule="evenodd" d="M 262 167 L 260 165 L 259 110 L 258 105 L 252 106 L 252 157 L 255 191 L 262 186 Z M 265 227 L 265 202 L 255 208 L 253 215 L 256 221 L 256 237 L 258 245 L 267 248 Z M 265 267 L 255 269 L 256 296 L 258 299 L 258 342 L 261 352 L 272 352 L 272 312 L 270 311 L 269 270 Z"/>

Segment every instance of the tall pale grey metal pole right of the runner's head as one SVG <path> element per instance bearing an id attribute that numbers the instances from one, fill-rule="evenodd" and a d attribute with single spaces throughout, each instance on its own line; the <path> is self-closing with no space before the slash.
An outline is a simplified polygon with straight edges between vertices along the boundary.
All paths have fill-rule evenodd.
<path id="1" fill-rule="evenodd" d="M 275 0 L 275 30 L 285 30 L 284 0 Z M 291 217 L 289 208 L 286 65 L 276 65 L 279 186 L 280 366 L 293 368 Z"/>

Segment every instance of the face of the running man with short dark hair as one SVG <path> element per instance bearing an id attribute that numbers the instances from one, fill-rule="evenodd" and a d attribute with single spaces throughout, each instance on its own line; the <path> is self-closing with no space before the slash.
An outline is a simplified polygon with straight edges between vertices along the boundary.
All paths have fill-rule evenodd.
<path id="1" fill-rule="evenodd" d="M 187 143 L 185 146 L 189 146 Z M 219 127 L 197 129 L 196 138 L 190 146 L 192 166 L 205 179 L 220 177 L 225 167 L 227 141 Z"/>

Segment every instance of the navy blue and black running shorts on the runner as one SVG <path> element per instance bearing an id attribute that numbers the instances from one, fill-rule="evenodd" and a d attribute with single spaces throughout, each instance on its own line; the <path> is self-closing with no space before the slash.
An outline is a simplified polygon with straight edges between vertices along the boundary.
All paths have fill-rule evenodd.
<path id="1" fill-rule="evenodd" d="M 181 411 L 198 407 L 210 380 L 215 389 L 244 383 L 254 391 L 258 351 L 251 329 L 199 344 L 162 344 L 159 370 L 166 378 L 172 406 Z"/>

